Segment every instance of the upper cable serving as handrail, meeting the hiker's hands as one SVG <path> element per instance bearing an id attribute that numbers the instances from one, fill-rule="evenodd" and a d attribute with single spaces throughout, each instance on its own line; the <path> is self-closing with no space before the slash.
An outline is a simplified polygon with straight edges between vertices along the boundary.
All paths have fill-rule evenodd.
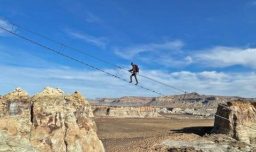
<path id="1" fill-rule="evenodd" d="M 32 31 L 32 30 L 29 30 L 29 29 L 24 28 L 24 27 L 22 27 L 22 26 L 19 26 L 19 25 L 15 24 L 15 23 L 12 23 L 12 22 L 10 22 L 10 21 L 8 21 L 8 20 L 6 20 L 6 19 L 0 18 L 0 20 L 3 20 L 3 21 L 5 21 L 5 22 L 7 22 L 7 23 L 10 23 L 11 25 L 16 26 L 16 27 L 18 27 L 18 28 L 20 28 L 20 29 L 23 29 L 23 30 L 25 30 L 25 31 L 27 31 L 27 32 L 29 32 L 29 33 L 32 33 L 32 34 L 36 35 L 36 36 L 42 37 L 42 38 L 44 38 L 44 39 L 47 39 L 48 41 L 54 42 L 54 43 L 56 43 L 56 44 L 59 44 L 59 45 L 63 46 L 64 48 L 68 48 L 68 49 L 73 50 L 73 51 L 75 51 L 75 52 L 78 52 L 78 53 L 81 53 L 81 54 L 86 55 L 86 56 L 88 56 L 88 57 L 91 57 L 91 58 L 93 58 L 93 59 L 96 59 L 96 60 L 99 60 L 99 61 L 101 61 L 101 62 L 107 63 L 108 65 L 117 67 L 118 69 L 122 69 L 122 70 L 125 70 L 125 71 L 129 71 L 128 69 L 125 69 L 125 68 L 123 68 L 123 67 L 117 66 L 117 65 L 115 65 L 115 64 L 113 64 L 113 63 L 111 63 L 111 62 L 108 62 L 108 61 L 106 61 L 106 60 L 97 58 L 97 57 L 95 57 L 94 55 L 85 53 L 84 51 L 80 51 L 80 50 L 75 49 L 74 47 L 71 47 L 71 46 L 69 46 L 69 45 L 65 45 L 65 44 L 63 44 L 63 43 L 61 43 L 61 42 L 58 42 L 58 41 L 52 39 L 52 38 L 43 36 L 43 35 L 41 35 L 41 34 L 39 34 L 39 33 L 36 33 L 35 31 Z M 153 79 L 153 78 L 150 78 L 150 77 L 141 75 L 141 74 L 137 74 L 137 75 L 139 75 L 139 76 L 141 76 L 141 77 L 144 77 L 144 78 L 146 78 L 146 79 L 149 79 L 149 80 L 151 80 L 151 81 L 154 81 L 154 82 L 156 82 L 156 83 L 159 83 L 159 84 L 162 84 L 162 85 L 171 87 L 172 89 L 175 89 L 175 90 L 177 90 L 177 91 L 183 92 L 183 93 L 185 93 L 185 94 L 187 93 L 187 92 L 184 91 L 184 90 L 178 89 L 178 88 L 175 87 L 175 86 L 171 86 L 171 85 L 162 83 L 162 82 L 160 82 L 160 81 L 157 81 L 156 79 Z"/>

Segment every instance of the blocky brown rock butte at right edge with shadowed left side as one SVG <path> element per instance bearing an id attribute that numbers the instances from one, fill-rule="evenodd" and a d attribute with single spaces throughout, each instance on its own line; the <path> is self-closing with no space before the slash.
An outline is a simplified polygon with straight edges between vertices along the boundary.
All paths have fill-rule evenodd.
<path id="1" fill-rule="evenodd" d="M 217 108 L 213 133 L 256 144 L 256 102 L 237 100 Z"/>

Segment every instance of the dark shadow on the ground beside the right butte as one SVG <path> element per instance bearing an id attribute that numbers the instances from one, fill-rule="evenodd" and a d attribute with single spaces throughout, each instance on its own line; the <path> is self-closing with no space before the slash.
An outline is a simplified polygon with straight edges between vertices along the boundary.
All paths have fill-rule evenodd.
<path id="1" fill-rule="evenodd" d="M 200 136 L 203 136 L 204 134 L 210 134 L 210 131 L 213 129 L 212 126 L 195 126 L 195 127 L 184 127 L 180 130 L 170 130 L 174 133 L 194 133 L 198 134 Z"/>

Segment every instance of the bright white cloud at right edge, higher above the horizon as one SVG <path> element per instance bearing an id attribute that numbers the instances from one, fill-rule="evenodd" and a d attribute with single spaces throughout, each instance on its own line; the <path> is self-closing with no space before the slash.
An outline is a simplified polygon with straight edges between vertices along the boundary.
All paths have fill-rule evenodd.
<path id="1" fill-rule="evenodd" d="M 256 49 L 216 46 L 213 49 L 199 51 L 192 57 L 193 62 L 209 67 L 229 67 L 242 65 L 256 68 Z"/>

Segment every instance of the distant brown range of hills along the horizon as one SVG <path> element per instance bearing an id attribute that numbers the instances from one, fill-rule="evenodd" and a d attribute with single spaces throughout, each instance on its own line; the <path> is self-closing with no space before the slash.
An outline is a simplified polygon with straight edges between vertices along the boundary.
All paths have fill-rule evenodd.
<path id="1" fill-rule="evenodd" d="M 195 92 L 168 97 L 122 97 L 122 98 L 97 98 L 88 101 L 96 105 L 104 106 L 157 106 L 172 108 L 217 108 L 219 103 L 226 103 L 244 99 L 240 97 L 225 97 L 219 95 L 202 95 Z M 256 99 L 246 99 L 256 101 Z"/>

